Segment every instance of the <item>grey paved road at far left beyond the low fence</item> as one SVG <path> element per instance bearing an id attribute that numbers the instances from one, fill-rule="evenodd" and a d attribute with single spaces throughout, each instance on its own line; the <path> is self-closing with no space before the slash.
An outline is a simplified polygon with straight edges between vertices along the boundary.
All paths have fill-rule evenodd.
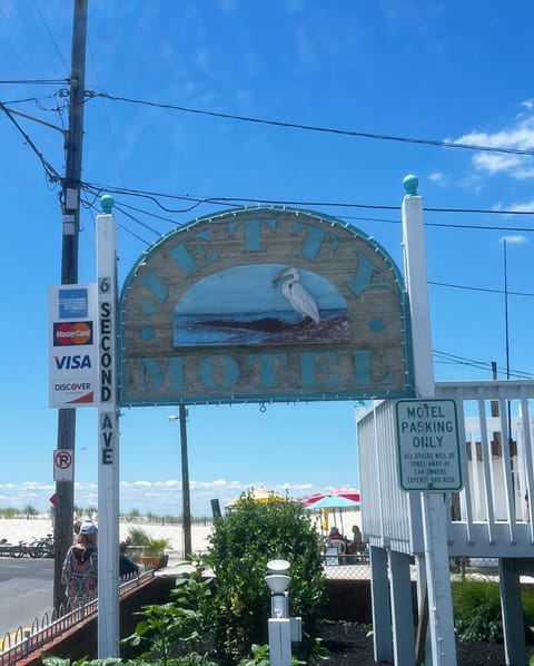
<path id="1" fill-rule="evenodd" d="M 53 559 L 0 557 L 0 638 L 41 621 L 53 604 Z"/>

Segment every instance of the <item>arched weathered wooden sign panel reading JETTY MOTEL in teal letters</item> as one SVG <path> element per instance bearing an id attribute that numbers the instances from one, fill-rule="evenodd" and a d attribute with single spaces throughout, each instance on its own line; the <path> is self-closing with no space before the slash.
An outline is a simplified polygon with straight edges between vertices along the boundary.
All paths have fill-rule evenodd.
<path id="1" fill-rule="evenodd" d="M 144 254 L 121 296 L 122 405 L 413 395 L 403 281 L 320 214 L 226 212 Z"/>

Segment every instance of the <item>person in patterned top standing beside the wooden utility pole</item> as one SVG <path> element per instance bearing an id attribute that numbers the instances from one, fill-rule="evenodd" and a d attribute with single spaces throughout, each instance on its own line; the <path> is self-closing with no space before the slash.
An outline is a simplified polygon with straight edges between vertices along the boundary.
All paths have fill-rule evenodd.
<path id="1" fill-rule="evenodd" d="M 71 608 L 87 604 L 97 595 L 98 550 L 97 526 L 86 520 L 80 526 L 77 542 L 65 557 L 61 582 Z"/>

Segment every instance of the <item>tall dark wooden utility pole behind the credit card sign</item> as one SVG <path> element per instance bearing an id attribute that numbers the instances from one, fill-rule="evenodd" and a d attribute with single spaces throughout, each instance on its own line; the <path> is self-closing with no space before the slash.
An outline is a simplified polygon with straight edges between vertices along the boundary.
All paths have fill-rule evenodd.
<path id="1" fill-rule="evenodd" d="M 75 0 L 71 45 L 69 130 L 66 140 L 66 169 L 61 192 L 62 249 L 61 284 L 78 282 L 78 241 L 80 232 L 80 182 L 86 95 L 86 40 L 88 0 Z M 58 449 L 75 450 L 76 409 L 58 410 Z M 56 483 L 53 607 L 65 603 L 61 566 L 72 545 L 75 511 L 73 481 Z"/>

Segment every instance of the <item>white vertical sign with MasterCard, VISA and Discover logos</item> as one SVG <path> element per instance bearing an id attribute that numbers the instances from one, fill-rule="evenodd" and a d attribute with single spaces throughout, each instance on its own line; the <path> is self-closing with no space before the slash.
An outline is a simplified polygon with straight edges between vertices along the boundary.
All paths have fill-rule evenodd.
<path id="1" fill-rule="evenodd" d="M 49 404 L 98 404 L 97 290 L 63 284 L 49 290 Z"/>

